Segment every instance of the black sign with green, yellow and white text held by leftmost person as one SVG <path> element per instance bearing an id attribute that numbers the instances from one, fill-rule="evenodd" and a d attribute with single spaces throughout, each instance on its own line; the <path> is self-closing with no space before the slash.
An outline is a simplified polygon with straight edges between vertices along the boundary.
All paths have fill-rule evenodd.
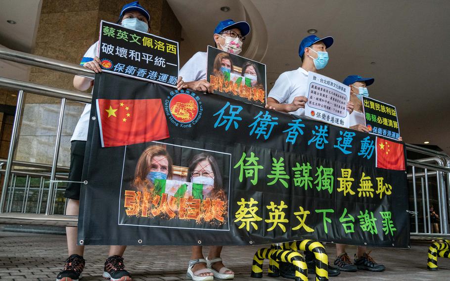
<path id="1" fill-rule="evenodd" d="M 177 85 L 178 42 L 101 21 L 98 44 L 103 71 L 163 85 Z"/>

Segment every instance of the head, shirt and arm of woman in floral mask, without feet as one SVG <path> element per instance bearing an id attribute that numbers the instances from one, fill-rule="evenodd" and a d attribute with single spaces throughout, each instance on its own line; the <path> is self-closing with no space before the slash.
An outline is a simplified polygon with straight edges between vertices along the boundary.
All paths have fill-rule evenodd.
<path id="1" fill-rule="evenodd" d="M 216 47 L 229 53 L 239 54 L 250 33 L 250 25 L 245 21 L 235 22 L 232 19 L 221 21 L 214 30 Z M 206 81 L 207 53 L 195 53 L 180 69 L 178 90 L 192 89 L 212 93 L 211 84 Z"/>

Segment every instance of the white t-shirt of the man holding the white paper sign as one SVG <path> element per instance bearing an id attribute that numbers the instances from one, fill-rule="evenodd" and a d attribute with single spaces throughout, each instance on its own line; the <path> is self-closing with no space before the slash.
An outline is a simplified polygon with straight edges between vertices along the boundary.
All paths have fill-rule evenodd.
<path id="1" fill-rule="evenodd" d="M 291 103 L 297 96 L 307 96 L 307 91 L 308 71 L 299 67 L 296 70 L 281 73 L 268 97 L 276 99 L 279 103 Z M 304 116 L 305 108 L 289 113 Z"/>

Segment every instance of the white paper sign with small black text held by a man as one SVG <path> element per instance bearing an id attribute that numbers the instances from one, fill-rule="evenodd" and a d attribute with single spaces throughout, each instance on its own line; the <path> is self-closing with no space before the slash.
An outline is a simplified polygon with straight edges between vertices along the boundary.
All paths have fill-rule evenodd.
<path id="1" fill-rule="evenodd" d="M 350 100 L 349 86 L 310 71 L 307 97 L 305 116 L 349 128 L 350 114 L 347 111 L 347 103 Z"/>

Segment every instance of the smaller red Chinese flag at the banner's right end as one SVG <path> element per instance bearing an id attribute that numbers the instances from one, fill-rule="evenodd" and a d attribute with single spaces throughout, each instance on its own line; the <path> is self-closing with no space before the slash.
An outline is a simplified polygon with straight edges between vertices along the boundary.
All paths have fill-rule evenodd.
<path id="1" fill-rule="evenodd" d="M 403 144 L 376 138 L 376 167 L 389 170 L 405 170 Z"/>

